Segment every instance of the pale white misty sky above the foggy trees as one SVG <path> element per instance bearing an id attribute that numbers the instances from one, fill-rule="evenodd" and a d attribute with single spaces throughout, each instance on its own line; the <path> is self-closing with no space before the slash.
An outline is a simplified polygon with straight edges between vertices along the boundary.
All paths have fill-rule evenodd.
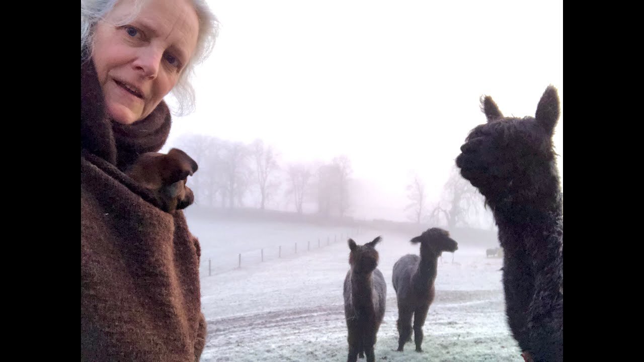
<path id="1" fill-rule="evenodd" d="M 262 138 L 281 164 L 344 153 L 381 196 L 372 207 L 404 220 L 413 173 L 439 200 L 468 131 L 486 120 L 481 95 L 504 115 L 534 116 L 553 84 L 563 184 L 562 1 L 209 4 L 220 36 L 196 68 L 196 111 L 175 117 L 165 151 L 200 133 Z"/>

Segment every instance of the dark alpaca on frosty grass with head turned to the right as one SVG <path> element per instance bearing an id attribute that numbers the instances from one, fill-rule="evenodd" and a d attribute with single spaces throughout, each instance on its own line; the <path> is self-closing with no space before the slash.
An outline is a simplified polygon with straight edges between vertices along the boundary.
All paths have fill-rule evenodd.
<path id="1" fill-rule="evenodd" d="M 421 243 L 421 256 L 407 254 L 393 265 L 393 289 L 398 300 L 398 350 L 412 337 L 416 352 L 422 352 L 422 325 L 434 300 L 438 258 L 443 251 L 459 249 L 450 233 L 438 227 L 428 229 L 411 240 Z"/>

